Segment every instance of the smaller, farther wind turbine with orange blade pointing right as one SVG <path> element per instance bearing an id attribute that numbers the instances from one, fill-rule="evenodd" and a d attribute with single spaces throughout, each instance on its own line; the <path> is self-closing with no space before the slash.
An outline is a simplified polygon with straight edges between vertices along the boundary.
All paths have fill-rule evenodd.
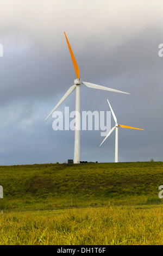
<path id="1" fill-rule="evenodd" d="M 109 103 L 109 100 L 108 100 L 108 103 Z M 122 128 L 128 128 L 128 129 L 136 129 L 136 130 L 144 130 L 144 129 L 140 129 L 140 128 L 135 128 L 135 127 L 131 127 L 131 126 L 126 126 L 126 125 L 120 125 L 120 124 L 117 124 L 117 119 L 116 119 L 116 116 L 115 116 L 115 113 L 114 111 L 112 110 L 112 107 L 109 103 L 109 107 L 110 107 L 110 110 L 111 110 L 111 113 L 112 113 L 112 116 L 115 120 L 115 126 L 112 127 L 112 129 L 109 131 L 108 135 L 106 135 L 106 137 L 104 138 L 103 142 L 106 140 L 106 138 L 109 137 L 109 135 L 111 135 L 111 132 L 115 130 L 115 163 L 118 162 L 118 126 L 122 127 Z M 103 144 L 103 142 L 99 145 L 99 147 Z"/>

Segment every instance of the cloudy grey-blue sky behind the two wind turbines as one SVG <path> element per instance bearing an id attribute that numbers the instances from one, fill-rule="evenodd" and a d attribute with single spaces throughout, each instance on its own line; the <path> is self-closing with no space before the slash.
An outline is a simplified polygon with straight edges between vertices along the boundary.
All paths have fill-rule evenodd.
<path id="1" fill-rule="evenodd" d="M 119 124 L 118 160 L 162 161 L 163 2 L 150 0 L 0 0 L 0 165 L 73 159 L 74 131 L 54 131 L 51 116 L 73 85 L 64 31 L 86 82 L 81 111 L 110 111 Z M 57 109 L 75 110 L 75 91 Z M 111 117 L 111 127 L 114 126 Z M 81 131 L 81 161 L 114 162 L 115 132 Z"/>

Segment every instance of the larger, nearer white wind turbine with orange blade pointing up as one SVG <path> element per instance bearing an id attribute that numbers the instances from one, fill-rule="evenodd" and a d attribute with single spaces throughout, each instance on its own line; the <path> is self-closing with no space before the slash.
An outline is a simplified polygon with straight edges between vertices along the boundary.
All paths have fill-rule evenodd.
<path id="1" fill-rule="evenodd" d="M 65 32 L 64 32 L 64 34 L 65 34 Z M 74 89 L 76 89 L 76 113 L 80 113 L 80 86 L 81 86 L 81 84 L 84 84 L 84 86 L 89 87 L 89 88 L 95 88 L 95 89 L 100 89 L 100 90 L 109 90 L 110 92 L 116 92 L 116 93 L 125 93 L 125 92 L 121 92 L 120 90 L 115 90 L 115 89 L 111 89 L 111 88 L 104 87 L 104 86 L 98 86 L 98 84 L 83 82 L 80 79 L 79 68 L 78 68 L 76 59 L 74 58 L 74 55 L 73 55 L 71 46 L 68 42 L 66 34 L 65 34 L 65 37 L 66 37 L 67 45 L 68 45 L 68 48 L 69 48 L 69 51 L 71 54 L 72 63 L 73 63 L 74 70 L 77 75 L 77 79 L 74 80 L 74 85 L 71 86 L 67 90 L 65 95 L 61 98 L 61 100 L 53 108 L 53 110 L 51 111 L 51 113 L 49 115 L 51 115 L 55 111 L 55 109 L 57 109 L 60 106 L 60 104 L 73 92 Z M 126 94 L 129 94 L 129 93 L 126 93 Z M 49 115 L 48 115 L 48 117 L 49 117 Z M 80 163 L 80 115 L 79 114 L 76 114 L 76 129 L 75 129 L 75 136 L 74 136 L 74 163 Z"/>

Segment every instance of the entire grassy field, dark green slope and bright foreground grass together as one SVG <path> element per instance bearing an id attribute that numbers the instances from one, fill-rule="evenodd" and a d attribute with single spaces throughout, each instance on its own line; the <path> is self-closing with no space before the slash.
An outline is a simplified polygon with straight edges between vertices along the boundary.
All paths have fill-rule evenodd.
<path id="1" fill-rule="evenodd" d="M 162 182 L 162 162 L 0 166 L 0 245 L 163 245 Z"/>

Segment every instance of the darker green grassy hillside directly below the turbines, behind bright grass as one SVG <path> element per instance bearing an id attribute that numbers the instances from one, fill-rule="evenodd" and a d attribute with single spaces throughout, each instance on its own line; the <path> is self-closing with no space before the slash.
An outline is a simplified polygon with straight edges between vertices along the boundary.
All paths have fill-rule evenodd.
<path id="1" fill-rule="evenodd" d="M 3 209 L 162 204 L 162 162 L 0 166 Z"/>

